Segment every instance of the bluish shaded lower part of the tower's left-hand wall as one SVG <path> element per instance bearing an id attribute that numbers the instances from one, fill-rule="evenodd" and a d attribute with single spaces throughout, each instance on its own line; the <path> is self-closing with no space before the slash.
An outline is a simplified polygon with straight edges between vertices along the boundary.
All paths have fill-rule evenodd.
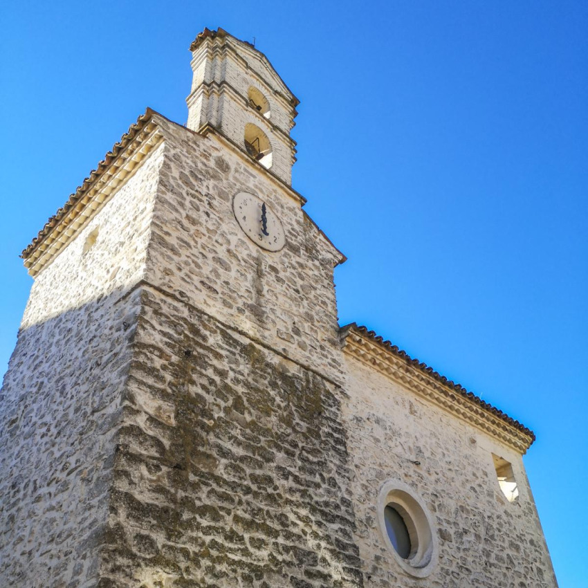
<path id="1" fill-rule="evenodd" d="M 115 291 L 19 333 L 0 392 L 1 586 L 98 582 L 139 300 Z"/>

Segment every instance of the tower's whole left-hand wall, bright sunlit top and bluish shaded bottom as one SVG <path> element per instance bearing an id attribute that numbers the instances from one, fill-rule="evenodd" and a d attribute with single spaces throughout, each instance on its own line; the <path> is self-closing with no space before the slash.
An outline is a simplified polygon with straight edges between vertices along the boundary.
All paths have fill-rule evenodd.
<path id="1" fill-rule="evenodd" d="M 0 392 L 0 586 L 95 586 L 163 147 L 33 284 Z M 98 237 L 84 252 L 86 239 Z"/>

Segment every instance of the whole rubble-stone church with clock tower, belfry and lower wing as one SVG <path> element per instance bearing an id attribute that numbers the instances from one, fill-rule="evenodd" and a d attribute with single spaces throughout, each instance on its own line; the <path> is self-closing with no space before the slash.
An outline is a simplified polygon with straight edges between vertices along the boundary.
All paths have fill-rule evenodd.
<path id="1" fill-rule="evenodd" d="M 533 432 L 357 324 L 291 186 L 298 100 L 226 31 L 22 257 L 0 586 L 555 587 Z"/>

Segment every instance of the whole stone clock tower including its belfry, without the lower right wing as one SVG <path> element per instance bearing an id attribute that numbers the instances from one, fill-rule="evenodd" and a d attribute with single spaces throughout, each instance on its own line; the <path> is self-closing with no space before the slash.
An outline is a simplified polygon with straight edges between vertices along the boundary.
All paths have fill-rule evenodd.
<path id="1" fill-rule="evenodd" d="M 22 253 L 0 586 L 361 586 L 298 101 L 221 29 L 191 49 L 188 128 L 147 109 Z"/>

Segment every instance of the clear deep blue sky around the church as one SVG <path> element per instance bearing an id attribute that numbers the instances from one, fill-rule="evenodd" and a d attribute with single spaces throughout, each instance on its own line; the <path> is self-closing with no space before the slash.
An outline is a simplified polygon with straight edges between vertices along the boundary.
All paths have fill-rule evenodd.
<path id="1" fill-rule="evenodd" d="M 588 3 L 3 3 L 0 365 L 19 252 L 149 106 L 185 122 L 222 26 L 300 98 L 294 187 L 349 261 L 356 321 L 535 430 L 562 588 L 588 586 Z"/>

